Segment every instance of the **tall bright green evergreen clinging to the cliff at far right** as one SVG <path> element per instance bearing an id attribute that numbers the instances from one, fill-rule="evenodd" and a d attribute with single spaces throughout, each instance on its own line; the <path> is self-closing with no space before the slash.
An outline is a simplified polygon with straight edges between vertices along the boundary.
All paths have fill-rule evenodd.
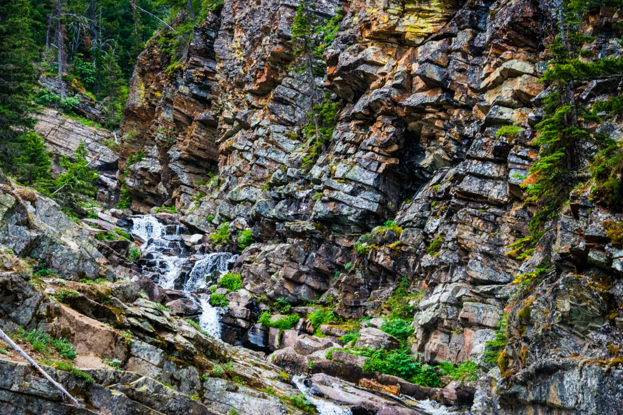
<path id="1" fill-rule="evenodd" d="M 602 3 L 592 1 L 590 6 Z M 528 202 L 538 207 L 530 223 L 532 243 L 540 238 L 546 219 L 559 212 L 571 189 L 578 184 L 579 167 L 589 156 L 583 154 L 587 144 L 598 147 L 612 144 L 601 134 L 589 132 L 586 123 L 595 121 L 596 116 L 591 108 L 576 98 L 578 87 L 591 80 L 623 75 L 623 58 L 584 62 L 592 55 L 581 47 L 594 40 L 594 37 L 580 30 L 581 17 L 587 12 L 587 6 L 586 1 L 561 1 L 558 9 L 559 34 L 548 47 L 553 59 L 541 81 L 548 85 L 551 93 L 543 101 L 545 117 L 536 125 L 538 135 L 535 145 L 540 151 L 530 169 L 530 176 L 524 182 Z"/>

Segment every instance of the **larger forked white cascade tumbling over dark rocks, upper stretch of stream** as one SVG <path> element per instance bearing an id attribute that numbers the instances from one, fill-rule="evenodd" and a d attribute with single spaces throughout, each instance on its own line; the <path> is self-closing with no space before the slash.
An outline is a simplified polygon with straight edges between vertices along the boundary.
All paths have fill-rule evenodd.
<path id="1" fill-rule="evenodd" d="M 173 289 L 184 264 L 188 261 L 188 258 L 180 256 L 184 252 L 181 243 L 168 240 L 167 227 L 153 215 L 134 217 L 133 221 L 132 234 L 145 241 L 141 246 L 141 252 L 151 254 L 158 264 L 158 285 L 164 289 Z M 179 235 L 179 226 L 174 235 Z M 206 276 L 211 276 L 215 272 L 226 273 L 229 263 L 235 258 L 236 256 L 231 253 L 207 254 L 194 264 L 182 291 L 195 292 L 207 288 L 211 283 L 206 282 Z M 221 338 L 221 310 L 212 307 L 207 294 L 197 294 L 197 297 L 202 309 L 199 316 L 201 329 L 216 338 Z"/>

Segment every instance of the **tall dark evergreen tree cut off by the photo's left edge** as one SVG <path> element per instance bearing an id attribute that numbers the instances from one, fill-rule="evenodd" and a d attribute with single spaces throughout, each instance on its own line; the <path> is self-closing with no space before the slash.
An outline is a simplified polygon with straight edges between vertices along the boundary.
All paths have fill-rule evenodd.
<path id="1" fill-rule="evenodd" d="M 0 0 L 0 167 L 14 171 L 24 129 L 34 126 L 34 44 L 25 0 Z"/>

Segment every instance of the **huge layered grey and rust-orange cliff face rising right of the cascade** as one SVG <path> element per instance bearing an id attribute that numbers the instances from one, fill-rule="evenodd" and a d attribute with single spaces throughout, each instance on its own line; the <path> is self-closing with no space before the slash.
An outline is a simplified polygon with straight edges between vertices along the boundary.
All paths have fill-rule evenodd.
<path id="1" fill-rule="evenodd" d="M 148 45 L 122 124 L 121 159 L 143 154 L 125 166 L 133 210 L 174 204 L 190 228 L 252 230 L 236 266 L 244 286 L 271 301 L 320 297 L 358 317 L 408 277 L 424 291 L 414 352 L 492 368 L 476 413 L 616 413 L 623 251 L 601 223 L 621 215 L 578 191 L 529 259 L 506 254 L 528 235 L 520 177 L 536 156 L 537 80 L 555 5 L 316 2 L 318 22 L 345 13 L 324 52 L 326 77 L 315 80 L 341 109 L 316 150 L 302 134 L 312 82 L 287 70 L 297 5 L 227 0 L 196 26 L 173 70 L 158 42 Z M 620 52 L 611 39 L 619 13 L 584 16 L 601 56 Z M 523 130 L 498 134 L 507 125 Z M 620 126 L 610 130 L 616 138 Z M 402 232 L 376 228 L 360 239 L 387 220 Z M 538 285 L 513 284 L 543 263 L 551 266 Z M 483 352 L 503 312 L 510 371 L 501 374 Z M 232 341 L 244 337 L 231 330 Z"/>

